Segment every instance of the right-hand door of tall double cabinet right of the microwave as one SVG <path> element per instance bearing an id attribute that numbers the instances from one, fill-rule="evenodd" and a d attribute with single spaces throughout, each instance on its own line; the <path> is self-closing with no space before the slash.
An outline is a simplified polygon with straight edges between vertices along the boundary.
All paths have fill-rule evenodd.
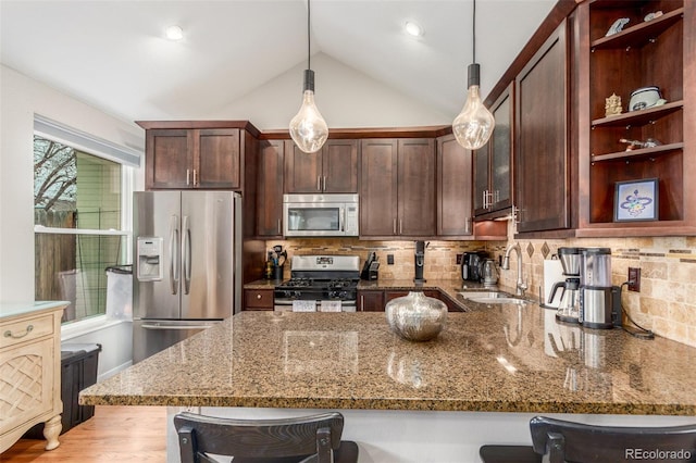
<path id="1" fill-rule="evenodd" d="M 435 235 L 435 142 L 432 138 L 400 139 L 398 234 Z"/>

